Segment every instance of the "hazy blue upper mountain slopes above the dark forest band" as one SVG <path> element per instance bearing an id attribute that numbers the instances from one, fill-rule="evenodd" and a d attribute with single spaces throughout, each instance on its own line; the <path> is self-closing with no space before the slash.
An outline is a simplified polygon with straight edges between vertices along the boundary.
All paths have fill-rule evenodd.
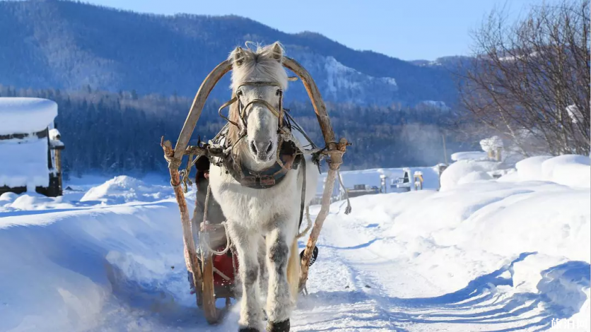
<path id="1" fill-rule="evenodd" d="M 0 1 L 0 84 L 190 97 L 234 47 L 276 40 L 310 71 L 326 100 L 385 106 L 456 100 L 446 66 L 356 51 L 317 33 L 283 33 L 238 16 L 160 16 L 57 0 Z M 228 97 L 227 86 L 228 78 L 213 96 Z M 286 98 L 305 100 L 305 91 L 296 85 Z"/>

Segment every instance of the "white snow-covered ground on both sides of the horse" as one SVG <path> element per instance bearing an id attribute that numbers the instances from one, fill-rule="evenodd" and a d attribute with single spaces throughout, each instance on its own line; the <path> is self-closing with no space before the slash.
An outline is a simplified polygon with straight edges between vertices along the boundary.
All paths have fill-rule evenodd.
<path id="1" fill-rule="evenodd" d="M 585 158 L 333 203 L 291 331 L 590 331 Z M 0 196 L 0 331 L 238 331 L 237 307 L 218 326 L 197 309 L 172 190 L 151 182 Z"/>

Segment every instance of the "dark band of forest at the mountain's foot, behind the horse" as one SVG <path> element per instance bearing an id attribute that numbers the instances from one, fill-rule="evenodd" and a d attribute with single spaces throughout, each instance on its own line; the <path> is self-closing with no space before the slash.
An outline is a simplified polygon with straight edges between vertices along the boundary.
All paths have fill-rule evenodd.
<path id="1" fill-rule="evenodd" d="M 57 128 L 62 133 L 64 170 L 69 174 L 103 172 L 166 172 L 160 136 L 175 142 L 192 100 L 162 95 L 97 90 L 25 90 L 0 85 L 0 97 L 43 97 L 59 106 Z M 218 117 L 218 100 L 207 102 L 192 143 L 211 139 L 225 124 Z M 310 102 L 289 102 L 286 107 L 323 146 L 320 127 Z M 435 165 L 444 161 L 442 132 L 449 112 L 431 105 L 394 108 L 327 103 L 337 137 L 353 143 L 344 169 Z M 447 152 L 460 147 L 447 134 Z"/>

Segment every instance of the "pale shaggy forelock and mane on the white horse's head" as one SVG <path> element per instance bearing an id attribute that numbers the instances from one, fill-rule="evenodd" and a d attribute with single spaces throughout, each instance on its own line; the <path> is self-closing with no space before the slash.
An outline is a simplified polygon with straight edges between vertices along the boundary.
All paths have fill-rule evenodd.
<path id="1" fill-rule="evenodd" d="M 250 46 L 254 46 L 251 49 Z M 252 42 L 246 43 L 247 48 L 242 49 L 237 47 L 230 53 L 230 61 L 233 64 L 232 96 L 235 95 L 236 89 L 240 84 L 249 81 L 269 81 L 279 83 L 281 89 L 287 89 L 288 78 L 283 64 L 281 64 L 283 57 L 283 47 L 279 42 L 267 46 L 254 45 Z M 240 114 L 238 114 L 238 102 L 230 105 L 229 119 L 235 123 L 240 123 Z M 233 124 L 230 124 L 228 129 L 228 141 L 236 143 L 238 141 L 240 129 Z"/>

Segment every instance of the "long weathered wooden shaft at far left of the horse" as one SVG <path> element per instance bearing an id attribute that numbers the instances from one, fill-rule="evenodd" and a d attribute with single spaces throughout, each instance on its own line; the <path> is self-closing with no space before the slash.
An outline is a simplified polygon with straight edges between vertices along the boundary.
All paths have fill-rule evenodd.
<path id="1" fill-rule="evenodd" d="M 165 141 L 162 143 L 164 154 L 168 158 L 172 158 L 174 151 L 172 150 L 172 143 Z M 199 268 L 199 261 L 197 259 L 197 251 L 195 251 L 195 241 L 191 228 L 191 220 L 189 219 L 189 210 L 187 209 L 187 201 L 185 201 L 185 193 L 180 186 L 179 170 L 175 167 L 168 169 L 170 171 L 170 184 L 175 190 L 175 198 L 180 210 L 180 221 L 182 224 L 182 242 L 185 246 L 185 263 L 189 271 L 193 273 L 193 284 L 197 292 L 201 291 L 201 269 Z M 198 303 L 198 305 L 200 305 Z"/>

